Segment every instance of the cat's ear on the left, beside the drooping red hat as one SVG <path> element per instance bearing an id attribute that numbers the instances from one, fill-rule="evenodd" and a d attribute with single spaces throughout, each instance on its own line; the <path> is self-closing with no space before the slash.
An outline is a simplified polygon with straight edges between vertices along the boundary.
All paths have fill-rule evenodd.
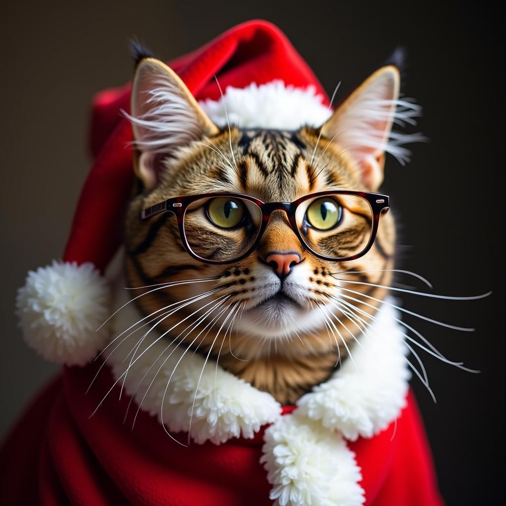
<path id="1" fill-rule="evenodd" d="M 179 76 L 156 58 L 138 64 L 132 86 L 134 169 L 144 187 L 159 181 L 161 161 L 191 141 L 218 134 Z"/>

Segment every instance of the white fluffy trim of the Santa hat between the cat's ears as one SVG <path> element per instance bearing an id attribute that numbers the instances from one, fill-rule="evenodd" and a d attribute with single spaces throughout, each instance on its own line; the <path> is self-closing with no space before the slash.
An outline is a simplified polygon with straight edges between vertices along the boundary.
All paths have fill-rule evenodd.
<path id="1" fill-rule="evenodd" d="M 246 88 L 229 86 L 219 100 L 199 105 L 220 128 L 227 125 L 227 112 L 230 123 L 240 128 L 297 130 L 304 125 L 319 127 L 330 117 L 332 110 L 322 100 L 314 86 L 295 88 L 276 79 L 260 86 L 254 82 Z"/>

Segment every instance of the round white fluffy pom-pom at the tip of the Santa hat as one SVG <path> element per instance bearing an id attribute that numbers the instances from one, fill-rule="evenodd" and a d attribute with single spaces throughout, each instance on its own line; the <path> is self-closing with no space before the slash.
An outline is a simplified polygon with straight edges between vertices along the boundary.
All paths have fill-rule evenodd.
<path id="1" fill-rule="evenodd" d="M 85 365 L 106 344 L 106 280 L 91 263 L 53 262 L 30 271 L 16 313 L 28 346 L 51 362 Z"/>

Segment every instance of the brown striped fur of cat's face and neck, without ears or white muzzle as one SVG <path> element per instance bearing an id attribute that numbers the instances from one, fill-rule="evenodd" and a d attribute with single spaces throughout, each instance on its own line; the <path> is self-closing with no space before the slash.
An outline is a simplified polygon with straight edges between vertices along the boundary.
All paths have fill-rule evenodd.
<path id="1" fill-rule="evenodd" d="M 162 182 L 158 186 L 135 196 L 130 204 L 125 227 L 126 276 L 130 286 L 218 276 L 214 282 L 183 284 L 147 294 L 136 301 L 142 313 L 151 314 L 160 307 L 204 292 L 212 286 L 223 286 L 218 292 L 220 296 L 225 293 L 232 295 L 227 304 L 240 303 L 247 308 L 252 293 L 261 288 L 256 272 L 265 266 L 259 258 L 263 258 L 268 251 L 280 249 L 299 252 L 304 263 L 310 266 L 311 275 L 305 280 L 309 283 L 308 308 L 328 304 L 328 296 L 337 290 L 336 278 L 344 279 L 335 274 L 339 271 L 376 271 L 347 275 L 346 279 L 386 286 L 390 284 L 391 273 L 378 271 L 391 269 L 393 265 L 395 228 L 391 214 L 382 216 L 376 242 L 368 254 L 345 263 L 314 258 L 304 250 L 289 227 L 286 216 L 280 211 L 273 213 L 258 249 L 238 264 L 227 266 L 211 266 L 193 260 L 182 247 L 172 215 L 141 221 L 143 208 L 179 195 L 231 191 L 246 193 L 266 202 L 289 202 L 316 191 L 370 190 L 363 184 L 360 167 L 349 153 L 343 152 L 338 144 L 330 143 L 328 139 L 321 138 L 318 143 L 314 156 L 314 164 L 321 156 L 318 167 L 310 165 L 318 137 L 318 131 L 314 129 L 303 128 L 292 133 L 261 130 L 243 132 L 232 128 L 231 134 L 237 170 L 225 163 L 216 151 L 194 143 L 184 148 L 175 160 L 166 163 Z M 210 138 L 207 144 L 216 146 L 227 155 L 230 149 L 228 130 Z M 321 170 L 324 165 L 325 168 Z M 157 223 L 160 220 L 162 222 Z M 148 241 L 152 227 L 156 227 L 157 231 Z M 296 266 L 294 271 L 297 269 Z M 342 279 L 339 282 L 344 287 L 380 300 L 386 293 L 383 288 L 344 283 Z M 142 291 L 145 290 L 139 293 Z M 214 297 L 217 298 L 218 294 Z M 351 295 L 373 306 L 377 305 L 373 300 Z M 356 305 L 368 313 L 373 311 L 364 304 Z M 160 327 L 166 330 L 175 325 L 190 314 L 190 308 L 194 311 L 196 306 L 178 311 Z M 335 308 L 334 313 L 341 321 L 334 320 L 335 325 L 353 353 L 352 333 L 359 335 L 360 328 Z M 194 349 L 206 354 L 212 348 L 211 355 L 215 359 L 218 359 L 220 349 L 219 363 L 222 367 L 255 387 L 270 392 L 282 403 L 296 401 L 311 387 L 324 381 L 347 354 L 343 343 L 337 343 L 339 346 L 336 346 L 335 339 L 325 326 L 317 331 L 300 332 L 298 336 L 292 335 L 285 340 L 259 340 L 257 336 L 242 331 L 238 325 L 237 333 L 230 333 L 230 343 L 226 345 L 221 343 L 221 336 L 218 344 L 214 343 L 215 333 L 209 332 L 201 341 L 199 339 L 199 346 L 195 343 Z M 190 332 L 185 341 L 191 343 L 195 335 L 196 331 Z"/>

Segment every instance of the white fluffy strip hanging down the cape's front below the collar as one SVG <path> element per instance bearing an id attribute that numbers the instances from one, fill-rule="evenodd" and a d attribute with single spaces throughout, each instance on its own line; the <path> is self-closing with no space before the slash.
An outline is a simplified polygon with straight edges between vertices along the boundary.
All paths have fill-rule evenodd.
<path id="1" fill-rule="evenodd" d="M 264 436 L 260 462 L 279 506 L 357 506 L 365 501 L 355 454 L 320 424 L 285 415 Z"/>

